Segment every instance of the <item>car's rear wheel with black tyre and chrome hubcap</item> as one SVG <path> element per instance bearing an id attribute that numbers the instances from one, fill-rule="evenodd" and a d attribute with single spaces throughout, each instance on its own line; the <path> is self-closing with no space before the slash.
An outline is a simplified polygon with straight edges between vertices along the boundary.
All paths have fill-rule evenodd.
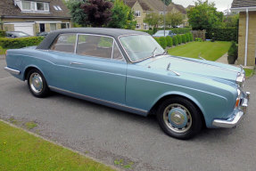
<path id="1" fill-rule="evenodd" d="M 45 77 L 38 69 L 29 70 L 27 79 L 31 94 L 38 98 L 45 97 L 49 94 L 50 90 L 45 81 Z"/>

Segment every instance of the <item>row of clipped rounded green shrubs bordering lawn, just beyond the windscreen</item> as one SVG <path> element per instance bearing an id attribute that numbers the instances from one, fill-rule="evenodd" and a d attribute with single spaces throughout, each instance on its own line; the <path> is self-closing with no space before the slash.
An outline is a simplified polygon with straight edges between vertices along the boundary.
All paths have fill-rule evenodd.
<path id="1" fill-rule="evenodd" d="M 176 35 L 174 37 L 154 37 L 154 39 L 161 45 L 162 48 L 172 47 L 173 45 L 186 44 L 194 40 L 192 33 L 183 35 Z"/>

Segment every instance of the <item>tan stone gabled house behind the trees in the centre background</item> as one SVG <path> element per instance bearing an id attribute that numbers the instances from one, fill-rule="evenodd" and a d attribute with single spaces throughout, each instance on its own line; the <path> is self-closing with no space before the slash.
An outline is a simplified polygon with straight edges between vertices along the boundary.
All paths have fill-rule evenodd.
<path id="1" fill-rule="evenodd" d="M 182 5 L 169 4 L 166 6 L 161 0 L 123 0 L 134 12 L 136 18 L 136 29 L 148 29 L 149 26 L 144 22 L 145 16 L 150 12 L 181 12 L 186 15 L 186 9 Z M 164 12 L 164 9 L 166 10 Z"/>

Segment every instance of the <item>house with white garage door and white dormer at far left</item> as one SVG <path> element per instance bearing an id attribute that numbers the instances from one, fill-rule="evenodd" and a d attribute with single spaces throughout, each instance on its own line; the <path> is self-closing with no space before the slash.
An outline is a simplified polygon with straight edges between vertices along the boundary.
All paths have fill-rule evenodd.
<path id="1" fill-rule="evenodd" d="M 31 36 L 71 25 L 62 0 L 1 0 L 0 17 L 5 31 L 23 31 Z"/>

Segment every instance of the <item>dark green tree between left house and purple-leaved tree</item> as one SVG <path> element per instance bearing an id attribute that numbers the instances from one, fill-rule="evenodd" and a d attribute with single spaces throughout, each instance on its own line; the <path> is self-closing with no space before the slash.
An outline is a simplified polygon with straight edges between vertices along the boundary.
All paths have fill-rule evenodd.
<path id="1" fill-rule="evenodd" d="M 86 27 L 88 24 L 87 14 L 81 8 L 81 4 L 84 4 L 84 3 L 85 3 L 84 1 L 77 1 L 77 0 L 70 0 L 66 2 L 70 10 L 70 15 L 72 17 L 73 22 L 77 23 L 82 27 Z"/>

